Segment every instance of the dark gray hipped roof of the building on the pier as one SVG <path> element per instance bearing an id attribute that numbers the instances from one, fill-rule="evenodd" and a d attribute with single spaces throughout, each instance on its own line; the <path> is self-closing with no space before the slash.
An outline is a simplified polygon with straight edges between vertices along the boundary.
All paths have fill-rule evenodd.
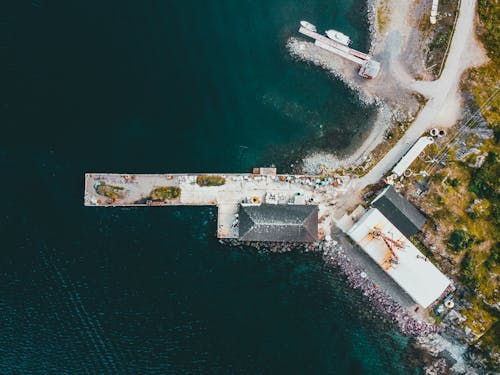
<path id="1" fill-rule="evenodd" d="M 313 242 L 318 239 L 318 206 L 240 206 L 242 241 Z"/>

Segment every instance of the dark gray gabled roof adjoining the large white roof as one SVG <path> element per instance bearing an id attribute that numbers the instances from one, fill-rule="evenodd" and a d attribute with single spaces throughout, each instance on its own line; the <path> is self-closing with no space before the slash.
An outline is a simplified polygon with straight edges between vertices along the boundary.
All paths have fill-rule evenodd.
<path id="1" fill-rule="evenodd" d="M 406 237 L 419 232 L 425 216 L 389 185 L 375 198 L 372 207 L 379 210 Z"/>

